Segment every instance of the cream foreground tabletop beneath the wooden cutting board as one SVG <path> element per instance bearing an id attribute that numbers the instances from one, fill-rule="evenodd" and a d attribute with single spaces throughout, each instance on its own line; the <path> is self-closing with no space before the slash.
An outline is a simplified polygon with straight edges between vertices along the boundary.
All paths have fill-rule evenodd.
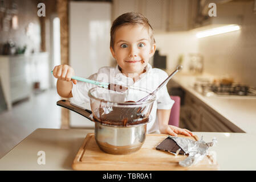
<path id="1" fill-rule="evenodd" d="M 0 159 L 0 170 L 72 170 L 71 164 L 87 133 L 82 129 L 37 129 Z M 220 170 L 256 170 L 256 134 L 194 132 L 205 142 L 217 138 L 209 150 L 216 151 Z M 38 164 L 38 151 L 46 164 Z M 108 169 L 106 169 L 108 170 Z M 135 169 L 136 170 L 136 169 Z"/>

